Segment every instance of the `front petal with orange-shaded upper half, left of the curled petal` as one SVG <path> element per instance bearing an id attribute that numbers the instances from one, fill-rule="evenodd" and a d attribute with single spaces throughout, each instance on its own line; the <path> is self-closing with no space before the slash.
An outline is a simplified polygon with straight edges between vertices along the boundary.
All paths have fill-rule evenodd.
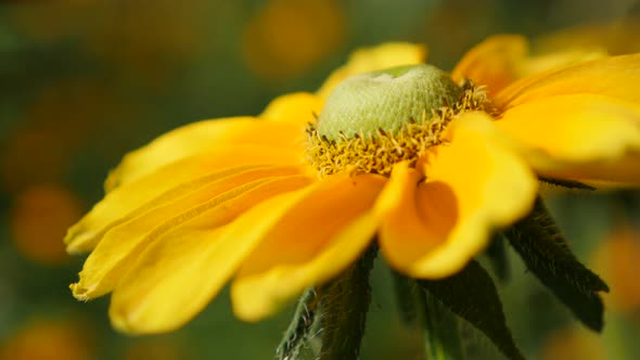
<path id="1" fill-rule="evenodd" d="M 231 285 L 235 314 L 260 320 L 355 261 L 377 228 L 370 209 L 384 182 L 374 175 L 323 179 L 242 263 Z"/>

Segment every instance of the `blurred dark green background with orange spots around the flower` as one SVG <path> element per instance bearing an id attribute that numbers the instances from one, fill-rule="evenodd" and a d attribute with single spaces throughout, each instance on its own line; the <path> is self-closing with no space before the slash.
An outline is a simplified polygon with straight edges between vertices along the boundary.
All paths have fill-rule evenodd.
<path id="1" fill-rule="evenodd" d="M 0 1 L 0 359 L 273 358 L 291 309 L 245 324 L 225 293 L 182 330 L 127 337 L 110 327 L 107 298 L 71 296 L 82 258 L 67 256 L 62 239 L 101 198 L 106 172 L 125 153 L 190 121 L 258 114 L 278 94 L 313 91 L 362 46 L 423 42 L 431 62 L 451 69 L 491 34 L 536 39 L 623 22 L 640 35 L 639 14 L 632 0 Z M 640 36 L 620 38 L 583 40 L 640 51 Z M 500 291 L 530 359 L 637 359 L 639 197 L 550 198 L 579 258 L 612 287 L 601 337 L 510 254 L 511 281 Z M 420 337 L 398 322 L 381 261 L 373 288 L 362 359 L 421 359 Z M 469 336 L 475 358 L 500 358 L 488 340 Z"/>

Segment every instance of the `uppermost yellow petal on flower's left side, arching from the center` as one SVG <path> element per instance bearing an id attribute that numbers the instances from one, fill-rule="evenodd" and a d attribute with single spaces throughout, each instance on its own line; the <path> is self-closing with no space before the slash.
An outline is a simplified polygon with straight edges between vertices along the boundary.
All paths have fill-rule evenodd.
<path id="1" fill-rule="evenodd" d="M 212 152 L 222 145 L 263 145 L 302 152 L 304 129 L 296 124 L 251 117 L 193 123 L 155 139 L 123 158 L 105 181 L 105 190 L 135 181 L 176 160 Z"/>

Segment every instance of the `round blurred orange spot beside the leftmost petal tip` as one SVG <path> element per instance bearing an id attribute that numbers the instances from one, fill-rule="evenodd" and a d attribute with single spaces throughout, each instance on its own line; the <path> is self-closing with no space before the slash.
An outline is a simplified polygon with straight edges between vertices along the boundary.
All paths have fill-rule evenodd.
<path id="1" fill-rule="evenodd" d="M 17 195 L 11 210 L 11 239 L 25 257 L 57 265 L 68 259 L 62 240 L 81 216 L 76 197 L 57 185 L 39 185 Z"/>

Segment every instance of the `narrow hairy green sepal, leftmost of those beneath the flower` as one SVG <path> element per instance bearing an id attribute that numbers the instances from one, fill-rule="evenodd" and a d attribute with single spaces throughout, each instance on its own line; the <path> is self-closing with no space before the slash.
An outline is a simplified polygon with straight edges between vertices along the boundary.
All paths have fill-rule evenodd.
<path id="1" fill-rule="evenodd" d="M 276 356 L 279 360 L 299 359 L 300 351 L 306 347 L 307 339 L 316 320 L 318 296 L 316 290 L 309 287 L 305 291 L 293 314 L 293 319 L 280 342 Z"/>

